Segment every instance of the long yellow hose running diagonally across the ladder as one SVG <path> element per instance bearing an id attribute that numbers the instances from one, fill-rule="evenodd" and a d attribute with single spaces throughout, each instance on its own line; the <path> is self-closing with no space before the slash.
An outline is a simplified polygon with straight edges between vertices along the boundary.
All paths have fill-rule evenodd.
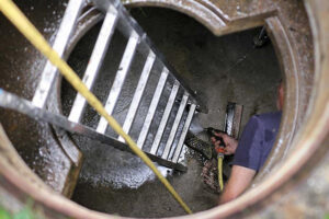
<path id="1" fill-rule="evenodd" d="M 54 66 L 56 66 L 61 74 L 70 82 L 70 84 L 86 97 L 87 102 L 103 116 L 110 126 L 121 135 L 129 148 L 154 171 L 160 182 L 167 187 L 175 200 L 184 208 L 188 214 L 192 214 L 191 209 L 178 195 L 167 178 L 159 172 L 152 161 L 137 147 L 134 140 L 124 132 L 120 124 L 110 116 L 102 103 L 88 90 L 76 72 L 64 61 L 58 54 L 49 46 L 47 41 L 20 11 L 20 9 L 11 0 L 0 0 L 0 10 L 2 13 L 18 27 L 18 30 L 42 53 Z"/>

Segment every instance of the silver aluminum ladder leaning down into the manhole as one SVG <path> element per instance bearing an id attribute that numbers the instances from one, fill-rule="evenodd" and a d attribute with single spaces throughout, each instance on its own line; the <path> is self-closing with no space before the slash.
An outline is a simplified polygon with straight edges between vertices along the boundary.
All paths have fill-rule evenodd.
<path id="1" fill-rule="evenodd" d="M 64 55 L 70 35 L 75 31 L 77 20 L 86 4 L 87 2 L 84 0 L 69 1 L 53 45 L 53 48 L 59 56 Z M 127 44 L 116 76 L 112 82 L 112 88 L 109 88 L 105 108 L 107 113 L 112 115 L 122 93 L 134 56 L 138 50 L 145 55 L 146 58 L 128 112 L 122 124 L 123 129 L 129 134 L 135 117 L 143 117 L 143 127 L 139 130 L 138 137 L 134 139 L 137 146 L 144 150 L 150 159 L 161 165 L 180 171 L 186 170 L 184 165 L 179 163 L 179 158 L 193 115 L 196 108 L 202 108 L 203 106 L 197 103 L 192 90 L 183 85 L 181 80 L 179 81 L 175 71 L 166 62 L 163 56 L 155 48 L 146 33 L 128 14 L 120 1 L 97 0 L 94 1 L 94 5 L 104 13 L 104 20 L 82 81 L 91 91 L 97 85 L 97 77 L 107 51 L 111 37 L 115 30 L 120 31 L 127 38 Z M 154 84 L 156 89 L 154 90 L 148 111 L 145 112 L 145 115 L 140 115 L 140 113 L 137 113 L 138 107 L 145 90 L 150 85 L 149 83 L 151 83 L 148 79 L 152 73 L 152 67 L 156 62 L 161 65 L 162 70 L 157 84 Z M 44 68 L 41 82 L 38 83 L 32 102 L 1 90 L 0 105 L 19 111 L 36 119 L 46 120 L 70 132 L 81 134 L 89 138 L 109 143 L 117 149 L 129 151 L 129 148 L 124 143 L 121 137 L 111 135 L 111 131 L 109 134 L 109 129 L 111 128 L 107 127 L 107 122 L 103 117 L 100 118 L 97 128 L 81 124 L 87 104 L 80 94 L 77 94 L 68 117 L 45 110 L 56 74 L 56 67 L 48 61 Z M 170 89 L 170 94 L 167 99 L 166 106 L 161 107 L 159 101 L 163 99 L 164 88 Z M 158 124 L 155 124 L 155 114 L 161 114 Z"/>

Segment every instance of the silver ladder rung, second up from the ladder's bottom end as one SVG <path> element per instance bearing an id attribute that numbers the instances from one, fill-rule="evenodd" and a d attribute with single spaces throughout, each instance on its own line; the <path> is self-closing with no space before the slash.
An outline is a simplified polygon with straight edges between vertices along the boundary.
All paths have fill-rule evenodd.
<path id="1" fill-rule="evenodd" d="M 174 122 L 173 122 L 168 141 L 166 143 L 166 147 L 164 147 L 164 150 L 163 150 L 163 153 L 162 153 L 162 159 L 168 160 L 168 155 L 170 153 L 172 142 L 174 140 L 174 137 L 175 137 L 177 131 L 178 131 L 178 127 L 179 127 L 179 125 L 181 123 L 181 119 L 183 117 L 183 114 L 184 114 L 184 110 L 185 110 L 185 106 L 186 106 L 186 103 L 188 103 L 188 99 L 189 99 L 189 94 L 185 92 L 184 95 L 183 95 L 182 102 L 180 104 L 179 111 L 175 115 L 175 118 L 174 118 Z"/>

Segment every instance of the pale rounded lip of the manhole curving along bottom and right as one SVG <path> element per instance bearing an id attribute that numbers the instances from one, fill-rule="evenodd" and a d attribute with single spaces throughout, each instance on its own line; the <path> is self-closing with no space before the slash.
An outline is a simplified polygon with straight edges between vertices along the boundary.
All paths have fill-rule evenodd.
<path id="1" fill-rule="evenodd" d="M 317 150 L 320 149 L 321 145 L 326 142 L 326 137 L 329 130 L 329 110 L 328 110 L 328 99 L 329 94 L 326 93 L 328 91 L 326 89 L 326 81 L 328 81 L 329 67 L 328 62 L 325 62 L 325 59 L 320 60 L 320 55 L 324 54 L 326 60 L 328 61 L 328 50 L 326 51 L 326 46 L 328 46 L 328 37 L 324 36 L 325 31 L 321 30 L 320 13 L 319 15 L 314 14 L 314 10 L 316 5 L 324 3 L 325 1 L 318 0 L 308 3 L 308 13 L 311 18 L 310 20 L 313 24 L 314 32 L 314 42 L 316 46 L 316 84 L 313 91 L 313 108 L 308 111 L 307 120 L 303 124 L 302 128 L 298 130 L 294 140 L 292 142 L 292 147 L 296 147 L 293 154 L 287 158 L 286 162 L 273 173 L 270 177 L 265 178 L 264 182 L 260 183 L 257 189 L 251 189 L 247 192 L 245 195 L 239 197 L 238 199 L 228 203 L 224 206 L 216 207 L 214 209 L 198 212 L 194 215 L 197 218 L 218 218 L 226 217 L 237 214 L 251 205 L 260 205 L 260 200 L 266 198 L 273 194 L 280 186 L 284 185 L 293 175 L 298 173 L 302 166 L 308 161 L 308 159 L 314 154 Z M 328 3 L 327 3 L 328 4 Z M 318 8 L 316 8 L 318 9 Z M 275 21 L 274 21 L 275 22 Z M 270 22 L 268 25 L 271 25 Z M 270 27 L 270 26 L 268 26 Z M 275 34 L 272 33 L 272 41 Z M 320 46 L 324 45 L 324 46 Z M 327 56 L 326 56 L 327 55 Z M 283 62 L 283 61 L 282 61 Z M 284 64 L 283 64 L 284 65 Z M 327 65 L 327 66 L 326 66 Z M 285 66 L 284 66 L 285 67 Z M 287 81 L 287 83 L 290 83 Z M 287 104 L 286 104 L 287 105 Z M 287 106 L 286 106 L 287 107 Z M 285 110 L 286 112 L 286 110 Z M 288 115 L 284 115 L 287 117 Z M 316 125 L 316 126 L 315 126 Z M 282 132 L 282 130 L 281 130 Z M 327 137 L 328 138 L 328 137 Z M 325 146 L 325 145 L 324 145 Z M 57 211 L 59 214 L 64 214 L 75 218 L 109 218 L 109 215 L 89 210 L 82 206 L 75 204 L 73 201 L 64 198 L 63 196 L 55 194 L 54 192 L 39 189 L 35 185 L 31 185 L 24 181 L 24 177 L 19 173 L 14 172 L 12 166 L 8 166 L 0 162 L 1 172 L 3 177 L 3 182 L 9 183 L 8 187 L 19 188 L 15 191 L 16 196 L 22 197 L 25 195 L 30 195 L 33 197 L 37 204 L 44 205 L 50 211 Z M 2 183 L 1 183 L 2 184 Z M 191 218 L 193 216 L 184 216 L 186 218 Z"/>

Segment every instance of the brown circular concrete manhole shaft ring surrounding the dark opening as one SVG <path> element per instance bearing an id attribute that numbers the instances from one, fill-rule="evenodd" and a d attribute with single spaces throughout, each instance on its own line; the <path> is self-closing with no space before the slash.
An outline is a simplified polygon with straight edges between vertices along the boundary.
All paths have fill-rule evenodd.
<path id="1" fill-rule="evenodd" d="M 256 178 L 256 187 L 234 201 L 194 216 L 186 216 L 186 218 L 253 217 L 254 214 L 261 214 L 263 217 L 281 217 L 282 214 L 287 216 L 292 216 L 293 212 L 313 214 L 314 211 L 310 210 L 309 206 L 303 208 L 295 204 L 307 203 L 305 201 L 307 196 L 317 197 L 316 199 L 319 201 L 311 201 L 310 205 L 320 205 L 324 211 L 318 210 L 317 214 L 324 215 L 328 206 L 325 204 L 326 201 L 321 203 L 320 200 L 326 200 L 326 197 L 329 197 L 328 186 L 316 185 L 311 180 L 305 181 L 305 176 L 315 170 L 311 176 L 318 177 L 318 182 L 328 182 L 325 174 L 321 174 L 328 172 L 329 148 L 328 2 L 325 0 L 306 0 L 304 2 L 282 0 L 275 1 L 275 3 L 271 0 L 262 1 L 262 3 L 257 0 L 229 2 L 225 0 L 183 0 L 179 2 L 133 0 L 126 3 L 179 10 L 195 18 L 216 35 L 265 25 L 274 44 L 286 84 L 283 122 L 275 150 L 272 151 L 263 171 Z M 52 34 L 58 26 L 65 4 L 63 1 L 37 5 L 24 2 L 20 7 L 52 41 Z M 33 13 L 34 10 L 37 13 Z M 98 20 L 98 16 L 94 15 L 90 18 L 91 22 L 93 18 Z M 35 89 L 36 72 L 41 72 L 44 59 L 26 44 L 25 39 L 2 16 L 0 30 L 8 30 L 7 34 L 0 35 L 2 39 L 1 51 L 5 51 L 1 53 L 2 58 L 0 59 L 3 72 L 3 78 L 0 80 L 1 87 L 25 97 L 31 97 Z M 34 74 L 26 74 L 26 69 L 30 69 Z M 20 81 L 23 82 L 18 83 Z M 23 159 L 31 160 L 27 162 L 31 168 L 37 166 L 37 163 L 33 164 L 37 154 L 42 159 L 42 168 L 44 163 L 49 164 L 49 168 L 39 169 L 39 172 L 36 172 L 41 176 L 42 173 L 45 173 L 42 178 L 49 182 L 48 184 L 53 189 L 36 180 L 31 170 L 22 161 L 19 161 L 18 153 L 10 150 L 10 142 L 5 141 L 2 135 L 0 141 L 2 147 L 0 194 L 1 197 L 5 197 L 7 201 L 1 201 L 1 205 L 8 209 L 18 210 L 31 197 L 35 200 L 35 208 L 42 209 L 36 212 L 45 214 L 45 217 L 109 218 L 109 215 L 89 210 L 54 192 L 56 189 L 68 196 L 71 194 L 71 189 L 67 189 L 67 187 L 73 188 L 75 186 L 66 184 L 67 181 L 63 178 L 77 177 L 81 163 L 73 164 L 66 153 L 67 150 L 64 149 L 65 146 L 58 147 L 58 141 L 53 138 L 53 129 L 47 125 L 30 122 L 23 116 L 2 112 L 1 110 L 1 123 L 4 125 L 10 140 L 18 149 L 22 149 L 19 152 Z M 24 145 L 20 145 L 18 139 L 26 139 L 26 141 Z M 63 143 L 63 141 L 60 142 Z M 46 150 L 39 149 L 45 145 L 47 146 Z M 33 149 L 32 152 L 23 152 L 27 147 Z M 60 159 L 56 160 L 58 158 Z M 61 176 L 55 177 L 55 181 L 52 178 L 47 181 L 49 173 L 52 171 L 54 173 L 54 170 L 58 170 L 57 168 L 65 170 L 60 172 Z M 268 174 L 269 172 L 271 174 Z M 296 187 L 299 182 L 302 184 Z M 297 191 L 298 188 L 302 189 Z M 287 194 L 286 191 L 291 192 Z M 293 216 L 296 217 L 296 215 Z"/>

